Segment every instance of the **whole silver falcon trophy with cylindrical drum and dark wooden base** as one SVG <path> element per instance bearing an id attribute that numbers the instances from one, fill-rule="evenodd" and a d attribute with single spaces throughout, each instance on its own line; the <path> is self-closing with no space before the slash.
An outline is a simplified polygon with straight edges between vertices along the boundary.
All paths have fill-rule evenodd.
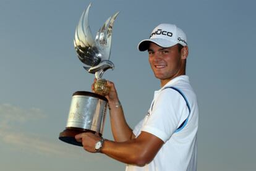
<path id="1" fill-rule="evenodd" d="M 91 4 L 80 17 L 75 30 L 74 46 L 80 61 L 85 64 L 83 68 L 95 74 L 95 93 L 77 91 L 73 94 L 66 129 L 59 134 L 59 140 L 77 146 L 82 146 L 74 138 L 79 133 L 92 132 L 102 136 L 108 108 L 108 99 L 105 96 L 109 93 L 106 80 L 102 77 L 106 70 L 114 69 L 109 56 L 112 28 L 119 12 L 106 20 L 93 40 L 88 24 L 90 6 Z"/>

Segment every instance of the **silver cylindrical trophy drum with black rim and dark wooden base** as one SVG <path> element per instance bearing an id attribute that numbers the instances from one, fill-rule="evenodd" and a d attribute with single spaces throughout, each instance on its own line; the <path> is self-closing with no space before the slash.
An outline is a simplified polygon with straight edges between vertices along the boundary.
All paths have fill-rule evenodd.
<path id="1" fill-rule="evenodd" d="M 102 136 L 108 99 L 100 94 L 77 91 L 73 94 L 66 129 L 59 134 L 59 140 L 82 146 L 75 135 L 84 132 L 99 133 Z"/>

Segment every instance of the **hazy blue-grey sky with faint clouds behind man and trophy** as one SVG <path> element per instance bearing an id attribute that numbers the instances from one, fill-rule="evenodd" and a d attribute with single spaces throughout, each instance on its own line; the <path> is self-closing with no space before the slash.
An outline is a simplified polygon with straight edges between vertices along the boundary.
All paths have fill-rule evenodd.
<path id="1" fill-rule="evenodd" d="M 255 1 L 0 0 L 0 168 L 5 171 L 124 170 L 103 154 L 58 140 L 72 93 L 94 75 L 74 50 L 75 27 L 92 2 L 92 33 L 120 11 L 104 78 L 115 83 L 133 128 L 160 81 L 137 44 L 160 23 L 187 34 L 187 72 L 198 98 L 198 171 L 256 170 Z M 105 123 L 104 138 L 113 140 Z"/>

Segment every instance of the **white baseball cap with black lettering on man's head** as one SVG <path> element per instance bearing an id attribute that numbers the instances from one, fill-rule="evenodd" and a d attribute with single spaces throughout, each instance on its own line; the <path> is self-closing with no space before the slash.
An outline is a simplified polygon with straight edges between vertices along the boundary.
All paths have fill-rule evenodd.
<path id="1" fill-rule="evenodd" d="M 169 48 L 178 43 L 182 46 L 187 46 L 187 36 L 176 25 L 161 23 L 151 32 L 149 39 L 140 41 L 138 45 L 139 51 L 147 51 L 151 42 L 163 48 Z"/>

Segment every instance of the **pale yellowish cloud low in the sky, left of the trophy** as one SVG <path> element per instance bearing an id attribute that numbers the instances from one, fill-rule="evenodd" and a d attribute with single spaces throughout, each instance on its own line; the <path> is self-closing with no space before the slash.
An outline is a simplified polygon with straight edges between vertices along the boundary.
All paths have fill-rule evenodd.
<path id="1" fill-rule="evenodd" d="M 39 122 L 45 118 L 46 114 L 41 109 L 22 109 L 12 104 L 0 104 L 0 142 L 12 148 L 18 147 L 17 149 L 43 155 L 75 155 L 72 149 L 64 148 L 50 138 L 31 132 L 33 129 L 20 131 L 24 123 L 30 120 Z"/>

